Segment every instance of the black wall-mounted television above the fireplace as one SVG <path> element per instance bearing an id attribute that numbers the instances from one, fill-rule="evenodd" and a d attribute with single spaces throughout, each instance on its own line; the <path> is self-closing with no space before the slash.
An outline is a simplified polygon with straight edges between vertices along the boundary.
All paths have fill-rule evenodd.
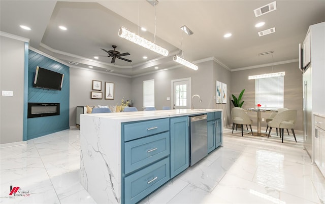
<path id="1" fill-rule="evenodd" d="M 41 89 L 61 90 L 64 74 L 36 67 L 33 87 Z"/>

